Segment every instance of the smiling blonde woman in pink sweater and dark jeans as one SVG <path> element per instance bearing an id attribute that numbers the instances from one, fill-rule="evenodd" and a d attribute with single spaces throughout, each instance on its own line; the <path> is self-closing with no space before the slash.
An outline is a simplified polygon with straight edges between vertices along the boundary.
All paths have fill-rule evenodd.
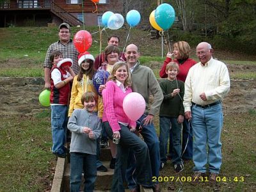
<path id="1" fill-rule="evenodd" d="M 147 144 L 134 133 L 136 122 L 130 120 L 123 109 L 125 96 L 132 92 L 128 65 L 124 61 L 115 63 L 108 79 L 106 88 L 102 91 L 104 104 L 102 122 L 109 138 L 115 140 L 117 148 L 111 191 L 125 191 L 123 180 L 130 149 L 134 151 L 136 157 L 137 184 L 144 188 L 152 188 L 152 172 Z"/>

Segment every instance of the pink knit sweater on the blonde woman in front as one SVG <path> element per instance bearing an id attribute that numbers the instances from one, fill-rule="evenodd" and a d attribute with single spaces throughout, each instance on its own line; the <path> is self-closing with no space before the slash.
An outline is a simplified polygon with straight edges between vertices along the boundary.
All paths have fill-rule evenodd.
<path id="1" fill-rule="evenodd" d="M 102 122 L 109 122 L 113 132 L 121 129 L 118 122 L 129 124 L 132 127 L 136 126 L 136 122 L 130 120 L 123 109 L 124 97 L 131 92 L 131 88 L 127 88 L 124 93 L 114 81 L 108 81 L 106 88 L 102 91 L 104 104 Z"/>

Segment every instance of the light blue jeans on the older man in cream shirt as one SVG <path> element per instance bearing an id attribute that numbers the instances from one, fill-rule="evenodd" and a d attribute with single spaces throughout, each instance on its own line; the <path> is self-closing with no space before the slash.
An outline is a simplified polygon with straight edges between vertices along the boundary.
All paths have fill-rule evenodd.
<path id="1" fill-rule="evenodd" d="M 193 170 L 205 173 L 208 161 L 209 172 L 219 173 L 221 166 L 220 136 L 223 125 L 221 104 L 204 109 L 193 105 L 191 113 L 194 136 L 193 161 L 195 164 Z"/>

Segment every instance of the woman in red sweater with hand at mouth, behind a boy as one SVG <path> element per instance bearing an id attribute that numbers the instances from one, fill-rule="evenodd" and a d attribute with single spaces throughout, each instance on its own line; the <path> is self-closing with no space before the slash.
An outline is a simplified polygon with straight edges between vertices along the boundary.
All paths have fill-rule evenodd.
<path id="1" fill-rule="evenodd" d="M 166 78 L 166 65 L 170 63 L 170 61 L 175 61 L 179 64 L 179 74 L 177 75 L 177 79 L 180 81 L 185 82 L 186 77 L 188 76 L 189 68 L 196 64 L 195 60 L 189 58 L 190 47 L 187 42 L 180 41 L 173 44 L 173 53 L 168 52 L 166 55 L 166 60 L 164 60 L 164 65 L 162 66 L 159 76 L 162 78 Z M 174 60 L 172 60 L 172 57 Z M 183 129 L 182 129 L 182 152 L 184 152 L 184 148 L 186 147 L 186 143 L 188 141 L 188 146 L 184 154 L 182 155 L 183 160 L 189 160 L 193 157 L 193 131 L 190 124 L 188 124 L 188 120 L 184 119 L 183 122 Z M 170 157 L 172 157 L 172 135 L 170 134 L 170 147 L 169 153 Z"/>

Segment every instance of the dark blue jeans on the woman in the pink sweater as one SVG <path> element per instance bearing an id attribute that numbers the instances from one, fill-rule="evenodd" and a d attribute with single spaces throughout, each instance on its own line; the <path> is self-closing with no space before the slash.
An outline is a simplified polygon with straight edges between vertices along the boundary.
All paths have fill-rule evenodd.
<path id="1" fill-rule="evenodd" d="M 113 131 L 108 122 L 103 123 L 106 132 L 113 139 Z M 136 179 L 138 184 L 145 187 L 152 187 L 152 171 L 147 144 L 136 134 L 131 132 L 128 127 L 119 124 L 121 127 L 120 141 L 116 145 L 117 155 L 115 163 L 115 172 L 112 180 L 111 191 L 125 191 L 123 181 L 125 179 L 125 170 L 127 161 L 129 161 L 129 150 L 133 150 L 136 157 Z"/>

